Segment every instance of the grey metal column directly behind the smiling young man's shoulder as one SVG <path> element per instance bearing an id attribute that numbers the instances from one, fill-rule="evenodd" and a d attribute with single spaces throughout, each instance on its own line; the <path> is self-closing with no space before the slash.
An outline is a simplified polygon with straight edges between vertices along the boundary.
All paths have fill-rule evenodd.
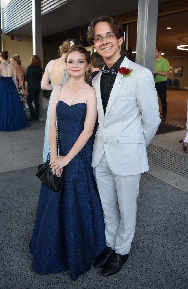
<path id="1" fill-rule="evenodd" d="M 139 0 L 136 63 L 154 73 L 158 0 Z"/>

